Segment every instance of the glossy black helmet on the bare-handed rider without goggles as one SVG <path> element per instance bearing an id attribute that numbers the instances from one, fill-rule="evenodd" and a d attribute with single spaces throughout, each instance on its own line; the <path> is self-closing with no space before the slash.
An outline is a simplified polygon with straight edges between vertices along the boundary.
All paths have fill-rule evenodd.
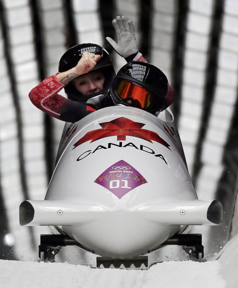
<path id="1" fill-rule="evenodd" d="M 91 69 L 91 71 L 100 69 L 100 71 L 102 71 L 104 74 L 105 82 L 103 85 L 103 90 L 85 96 L 73 86 L 72 82 L 70 82 L 64 88 L 65 93 L 71 100 L 84 102 L 89 105 L 91 104 L 91 106 L 95 106 L 95 108 L 100 108 L 100 102 L 107 95 L 108 89 L 110 88 L 113 78 L 115 77 L 115 70 L 113 68 L 112 61 L 110 60 L 108 52 L 104 48 L 92 43 L 79 44 L 70 48 L 63 54 L 59 61 L 59 72 L 65 72 L 75 67 L 78 64 L 78 61 L 82 58 L 84 52 L 101 55 L 101 58 L 98 60 L 93 69 Z M 91 71 L 88 73 L 91 73 Z"/>

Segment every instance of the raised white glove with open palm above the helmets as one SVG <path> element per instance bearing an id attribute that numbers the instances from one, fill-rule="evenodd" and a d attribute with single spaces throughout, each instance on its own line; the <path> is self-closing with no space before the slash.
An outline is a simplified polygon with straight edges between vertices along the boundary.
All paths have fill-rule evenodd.
<path id="1" fill-rule="evenodd" d="M 106 37 L 113 49 L 124 58 L 136 54 L 138 49 L 132 21 L 127 21 L 124 16 L 117 16 L 113 20 L 113 26 L 116 30 L 118 44 L 112 38 Z"/>

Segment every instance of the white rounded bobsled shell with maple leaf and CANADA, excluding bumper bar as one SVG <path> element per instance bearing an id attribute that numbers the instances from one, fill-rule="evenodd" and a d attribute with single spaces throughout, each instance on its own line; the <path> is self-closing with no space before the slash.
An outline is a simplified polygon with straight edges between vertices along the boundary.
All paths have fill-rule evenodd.
<path id="1" fill-rule="evenodd" d="M 166 121 L 137 108 L 108 107 L 65 126 L 45 200 L 89 207 L 88 218 L 62 229 L 99 255 L 147 253 L 180 225 L 138 211 L 197 199 L 173 115 L 163 113 Z M 98 207 L 113 213 L 91 216 Z"/>

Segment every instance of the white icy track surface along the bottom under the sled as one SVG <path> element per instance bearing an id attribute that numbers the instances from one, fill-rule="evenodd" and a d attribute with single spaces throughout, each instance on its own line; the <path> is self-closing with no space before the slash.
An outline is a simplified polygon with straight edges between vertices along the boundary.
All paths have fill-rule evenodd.
<path id="1" fill-rule="evenodd" d="M 149 270 L 93 269 L 68 263 L 0 260 L 1 287 L 237 288 L 238 235 L 203 263 L 167 261 Z"/>

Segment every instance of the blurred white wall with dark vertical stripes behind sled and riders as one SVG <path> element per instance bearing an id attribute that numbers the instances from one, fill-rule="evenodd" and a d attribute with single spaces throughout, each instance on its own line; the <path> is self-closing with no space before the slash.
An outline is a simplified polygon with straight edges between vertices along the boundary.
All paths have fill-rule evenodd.
<path id="1" fill-rule="evenodd" d="M 105 40 L 116 40 L 117 15 L 132 20 L 139 51 L 168 77 L 198 197 L 222 202 L 214 237 L 221 247 L 228 240 L 233 207 L 224 199 L 233 198 L 238 167 L 238 2 L 0 0 L 1 259 L 34 260 L 40 234 L 50 233 L 21 227 L 19 205 L 44 199 L 64 123 L 35 108 L 28 93 L 79 43 L 104 46 L 118 71 L 126 62 Z"/>

